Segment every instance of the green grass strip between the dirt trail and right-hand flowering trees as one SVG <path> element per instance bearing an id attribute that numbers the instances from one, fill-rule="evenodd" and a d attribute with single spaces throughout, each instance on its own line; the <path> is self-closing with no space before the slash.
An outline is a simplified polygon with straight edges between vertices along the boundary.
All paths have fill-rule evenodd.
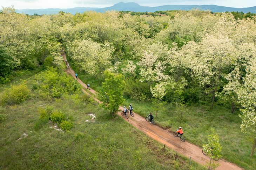
<path id="1" fill-rule="evenodd" d="M 160 110 L 156 117 L 149 101 L 138 102 L 127 99 L 124 105 L 128 106 L 130 103 L 133 105 L 134 112 L 143 117 L 152 112 L 156 123 L 163 128 L 175 131 L 182 126 L 186 141 L 200 147 L 207 142 L 210 129 L 215 128 L 220 136 L 220 143 L 223 146 L 222 155 L 225 160 L 248 170 L 256 167 L 256 154 L 253 157 L 249 156 L 252 148 L 249 135 L 241 133 L 239 111 L 231 114 L 229 109 L 218 105 L 215 105 L 213 110 L 205 106 L 192 105 L 187 106 L 181 118 L 180 111 L 175 106 L 167 104 L 166 110 Z"/>

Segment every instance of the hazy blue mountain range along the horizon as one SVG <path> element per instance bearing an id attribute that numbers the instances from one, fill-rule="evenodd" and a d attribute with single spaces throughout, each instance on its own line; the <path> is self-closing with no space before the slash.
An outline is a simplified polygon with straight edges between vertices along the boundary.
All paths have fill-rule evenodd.
<path id="1" fill-rule="evenodd" d="M 106 12 L 109 10 L 116 10 L 116 11 L 133 11 L 133 12 L 155 12 L 155 11 L 165 11 L 165 10 L 191 10 L 191 9 L 201 9 L 201 10 L 210 10 L 212 12 L 244 12 L 244 13 L 256 13 L 256 6 L 255 7 L 248 7 L 248 8 L 231 8 L 231 7 L 224 7 L 224 6 L 217 6 L 217 5 L 163 5 L 158 7 L 147 7 L 141 6 L 135 2 L 119 2 L 111 7 L 106 8 L 86 8 L 86 7 L 76 7 L 76 8 L 69 8 L 69 9 L 59 9 L 59 8 L 49 8 L 49 9 L 20 9 L 18 13 L 25 13 L 29 15 L 33 14 L 56 14 L 59 11 L 68 12 L 71 14 L 75 13 L 83 13 L 86 11 L 96 11 L 96 12 Z"/>

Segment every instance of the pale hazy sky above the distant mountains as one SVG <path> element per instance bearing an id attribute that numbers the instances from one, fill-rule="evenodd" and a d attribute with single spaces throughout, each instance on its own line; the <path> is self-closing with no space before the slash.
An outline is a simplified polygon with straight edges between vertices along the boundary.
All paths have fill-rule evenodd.
<path id="1" fill-rule="evenodd" d="M 136 2 L 142 6 L 160 5 L 220 5 L 227 7 L 252 7 L 256 0 L 0 0 L 0 6 L 14 5 L 16 9 L 108 7 L 118 2 Z"/>

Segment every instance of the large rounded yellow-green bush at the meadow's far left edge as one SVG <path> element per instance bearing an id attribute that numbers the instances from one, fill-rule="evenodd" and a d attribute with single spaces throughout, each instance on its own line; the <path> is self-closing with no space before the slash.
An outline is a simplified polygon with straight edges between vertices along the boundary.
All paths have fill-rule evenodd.
<path id="1" fill-rule="evenodd" d="M 30 91 L 26 84 L 20 84 L 12 86 L 9 89 L 5 89 L 4 94 L 1 96 L 1 103 L 3 104 L 19 104 L 29 98 Z"/>

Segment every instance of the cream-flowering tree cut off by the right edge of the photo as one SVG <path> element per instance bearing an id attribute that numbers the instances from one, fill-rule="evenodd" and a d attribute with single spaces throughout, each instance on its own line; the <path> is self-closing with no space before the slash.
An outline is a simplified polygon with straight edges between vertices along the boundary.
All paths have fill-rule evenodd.
<path id="1" fill-rule="evenodd" d="M 236 62 L 233 70 L 226 76 L 229 83 L 225 91 L 235 93 L 241 105 L 241 130 L 251 134 L 253 146 L 256 147 L 256 47 L 253 43 L 242 43 L 237 46 Z"/>

